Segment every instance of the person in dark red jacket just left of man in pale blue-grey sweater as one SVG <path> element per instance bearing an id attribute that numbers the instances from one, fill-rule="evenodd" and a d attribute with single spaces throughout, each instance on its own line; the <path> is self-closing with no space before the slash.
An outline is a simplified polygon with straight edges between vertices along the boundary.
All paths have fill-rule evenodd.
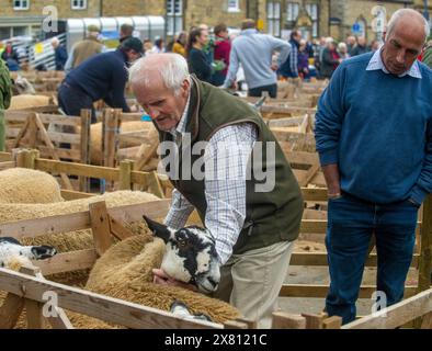
<path id="1" fill-rule="evenodd" d="M 214 33 L 215 50 L 214 50 L 214 73 L 212 82 L 214 86 L 221 86 L 228 73 L 229 54 L 231 52 L 231 42 L 228 38 L 228 29 L 224 23 L 215 26 Z"/>

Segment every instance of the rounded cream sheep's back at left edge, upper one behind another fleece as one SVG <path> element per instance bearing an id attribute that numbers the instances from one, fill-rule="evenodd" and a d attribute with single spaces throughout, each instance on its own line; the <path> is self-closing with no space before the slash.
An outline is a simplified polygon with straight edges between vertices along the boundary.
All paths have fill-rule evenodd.
<path id="1" fill-rule="evenodd" d="M 33 169 L 11 168 L 0 171 L 0 203 L 47 204 L 62 202 L 57 180 Z"/>

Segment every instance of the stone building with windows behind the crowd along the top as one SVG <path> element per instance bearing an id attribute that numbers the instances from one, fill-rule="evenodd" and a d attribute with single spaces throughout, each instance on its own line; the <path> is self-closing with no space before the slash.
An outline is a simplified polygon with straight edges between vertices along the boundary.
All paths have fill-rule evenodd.
<path id="1" fill-rule="evenodd" d="M 167 35 L 192 25 L 214 26 L 225 22 L 239 27 L 252 18 L 259 27 L 275 36 L 286 37 L 294 27 L 305 36 L 365 35 L 368 41 L 380 35 L 383 23 L 397 9 L 409 7 L 423 12 L 424 0 L 0 0 L 0 39 L 37 33 L 53 5 L 59 19 L 161 15 Z M 432 0 L 429 1 L 432 10 Z"/>

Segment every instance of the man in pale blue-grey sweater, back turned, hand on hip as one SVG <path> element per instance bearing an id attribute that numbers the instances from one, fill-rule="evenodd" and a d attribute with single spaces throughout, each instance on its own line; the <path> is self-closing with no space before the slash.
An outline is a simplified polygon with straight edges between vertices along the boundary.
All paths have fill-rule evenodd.
<path id="1" fill-rule="evenodd" d="M 253 20 L 245 20 L 241 30 L 240 36 L 232 42 L 229 70 L 223 88 L 232 86 L 241 64 L 249 97 L 260 98 L 266 91 L 271 98 L 276 98 L 276 70 L 288 57 L 289 44 L 271 35 L 260 34 Z M 272 61 L 274 52 L 280 52 L 277 64 Z"/>

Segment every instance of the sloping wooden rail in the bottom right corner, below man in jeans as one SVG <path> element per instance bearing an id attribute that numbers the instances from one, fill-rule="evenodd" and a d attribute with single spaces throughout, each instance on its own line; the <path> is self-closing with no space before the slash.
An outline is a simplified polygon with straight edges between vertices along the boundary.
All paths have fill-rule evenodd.
<path id="1" fill-rule="evenodd" d="M 342 329 L 394 329 L 432 312 L 432 288 L 374 315 L 342 326 Z"/>

